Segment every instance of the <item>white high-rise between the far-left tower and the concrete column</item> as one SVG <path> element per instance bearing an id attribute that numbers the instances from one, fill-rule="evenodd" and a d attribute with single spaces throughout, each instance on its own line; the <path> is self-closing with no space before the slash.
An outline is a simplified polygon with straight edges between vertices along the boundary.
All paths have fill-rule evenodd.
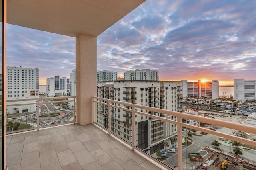
<path id="1" fill-rule="evenodd" d="M 66 77 L 47 78 L 47 96 L 70 96 L 70 80 Z"/>

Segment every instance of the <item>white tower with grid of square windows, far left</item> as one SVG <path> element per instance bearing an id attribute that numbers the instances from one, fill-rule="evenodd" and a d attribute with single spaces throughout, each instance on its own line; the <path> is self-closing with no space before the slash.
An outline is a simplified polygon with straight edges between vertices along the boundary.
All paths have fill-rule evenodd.
<path id="1" fill-rule="evenodd" d="M 39 98 L 39 69 L 7 67 L 7 100 L 27 98 Z M 8 114 L 34 111 L 35 105 L 25 105 L 31 101 L 18 103 L 21 105 L 8 107 Z"/>

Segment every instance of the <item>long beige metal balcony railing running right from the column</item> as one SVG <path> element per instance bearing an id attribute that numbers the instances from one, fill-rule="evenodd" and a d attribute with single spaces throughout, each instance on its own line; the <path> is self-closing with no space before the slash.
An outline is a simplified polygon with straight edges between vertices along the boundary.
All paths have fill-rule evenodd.
<path id="1" fill-rule="evenodd" d="M 104 103 L 104 102 L 108 102 L 108 104 Z M 132 113 L 132 118 L 129 119 L 129 123 L 127 123 L 127 118 L 126 116 L 124 117 L 120 117 L 119 119 L 116 118 L 111 118 L 111 114 L 109 115 L 108 118 L 108 127 L 114 127 L 112 129 L 106 129 L 103 127 L 103 125 L 100 125 L 99 123 L 97 123 L 97 114 L 96 114 L 96 106 L 98 103 L 104 103 L 106 105 L 108 105 L 109 111 L 110 108 L 116 108 L 117 110 L 120 110 L 120 113 L 126 113 L 127 111 Z M 113 103 L 116 103 L 116 105 L 120 104 L 120 106 L 115 106 Z M 94 124 L 97 124 L 99 127 L 102 127 L 103 129 L 106 129 L 106 131 L 108 131 L 108 133 L 110 135 L 113 135 L 115 137 L 118 137 L 120 140 L 122 140 L 124 143 L 126 143 L 127 145 L 129 145 L 130 147 L 132 147 L 132 150 L 135 150 L 136 152 L 140 152 L 142 154 L 144 154 L 144 156 L 147 159 L 150 159 L 153 162 L 156 162 L 156 164 L 161 164 L 163 167 L 167 168 L 167 169 L 174 169 L 175 167 L 178 167 L 178 170 L 183 170 L 183 169 L 191 169 L 193 168 L 193 166 L 201 166 L 201 163 L 204 162 L 204 160 L 208 160 L 209 158 L 203 158 L 203 160 L 201 162 L 196 162 L 196 163 L 185 163 L 184 164 L 184 160 L 188 159 L 188 154 L 189 152 L 187 151 L 187 149 L 182 149 L 184 147 L 184 145 L 188 145 L 188 143 L 193 143 L 191 142 L 192 139 L 188 139 L 188 132 L 191 131 L 196 131 L 195 133 L 202 133 L 203 135 L 208 135 L 207 137 L 204 137 L 203 135 L 199 135 L 194 136 L 194 144 L 198 147 L 188 147 L 189 150 L 193 150 L 193 149 L 198 149 L 199 147 L 202 146 L 206 146 L 207 148 L 209 148 L 208 146 L 211 145 L 211 143 L 213 141 L 208 141 L 209 139 L 212 140 L 219 140 L 221 139 L 225 139 L 225 141 L 230 140 L 230 141 L 237 141 L 239 143 L 242 143 L 243 145 L 250 145 L 252 147 L 256 147 L 256 141 L 251 140 L 251 139 L 246 139 L 244 137 L 241 137 L 239 135 L 234 135 L 234 133 L 231 133 L 231 131 L 235 132 L 235 133 L 239 133 L 239 132 L 244 132 L 244 134 L 251 134 L 252 136 L 255 136 L 255 132 L 256 132 L 256 127 L 253 126 L 248 126 L 248 125 L 243 125 L 243 124 L 239 124 L 239 123 L 233 123 L 233 122 L 228 122 L 228 121 L 222 121 L 222 120 L 217 120 L 217 119 L 212 119 L 212 118 L 208 118 L 208 117 L 202 117 L 202 116 L 196 116 L 196 115 L 190 115 L 190 114 L 186 114 L 186 113 L 178 113 L 178 112 L 174 112 L 174 111 L 168 111 L 168 110 L 164 110 L 164 109 L 159 109 L 159 108 L 153 108 L 153 107 L 148 107 L 148 106 L 141 106 L 141 105 L 136 105 L 136 104 L 131 104 L 131 103 L 127 103 L 127 102 L 120 102 L 120 101 L 115 101 L 115 100 L 108 100 L 108 99 L 104 99 L 104 98 L 98 98 L 98 97 L 93 97 L 93 122 Z M 121 107 L 124 106 L 124 107 Z M 125 106 L 129 106 L 131 109 L 125 107 Z M 148 114 L 148 113 L 144 113 L 144 112 L 140 112 L 140 110 L 147 110 L 150 113 L 157 113 L 157 115 L 152 115 L 152 114 Z M 135 115 L 138 115 L 137 117 L 139 119 L 137 119 L 137 117 Z M 162 117 L 161 117 L 162 115 Z M 163 115 L 165 115 L 163 117 Z M 147 117 L 147 118 L 146 118 Z M 170 119 L 170 117 L 172 117 L 172 119 Z M 175 118 L 174 118 L 175 117 Z M 141 120 L 143 118 L 143 120 Z M 191 122 L 193 122 L 192 124 L 187 124 L 184 123 L 183 120 L 191 120 Z M 115 121 L 116 120 L 116 121 Z M 145 121 L 148 121 L 148 126 L 152 126 L 152 128 L 156 127 L 157 131 L 154 130 L 154 134 L 153 132 L 151 132 L 150 127 L 148 126 L 143 126 L 143 130 L 145 130 L 146 127 L 148 127 L 148 132 L 146 132 L 147 134 L 145 136 L 147 136 L 148 134 L 150 135 L 152 133 L 152 137 L 148 137 L 148 145 L 142 146 L 142 144 L 139 142 L 138 140 L 138 131 L 140 131 L 138 129 L 138 126 L 140 123 L 140 125 L 144 125 L 143 123 Z M 114 122 L 118 122 L 114 123 Z M 133 123 L 135 122 L 135 123 Z M 161 123 L 163 122 L 163 123 Z M 116 124 L 117 126 L 115 127 L 114 125 L 112 125 L 111 123 Z M 122 124 L 123 123 L 123 124 Z M 170 136 L 165 136 L 164 133 L 161 132 L 161 128 L 166 128 L 166 125 L 164 125 L 164 123 L 169 123 L 170 125 L 168 125 L 167 127 L 170 129 L 167 129 L 169 132 L 171 131 L 172 134 Z M 220 127 L 220 130 L 211 130 L 213 128 L 207 128 L 207 127 L 200 127 L 199 125 L 196 124 L 199 123 L 206 123 L 208 124 L 208 126 L 215 126 L 215 127 Z M 132 126 L 132 128 L 130 127 Z M 120 129 L 118 129 L 119 127 L 122 127 Z M 127 128 L 127 129 L 126 129 Z M 186 141 L 184 143 L 184 139 L 182 138 L 182 133 L 184 131 L 184 128 L 187 132 L 186 137 Z M 122 130 L 121 130 L 122 129 Z M 126 129 L 126 130 L 124 130 Z M 131 130 L 132 131 L 132 138 L 130 138 L 126 133 L 127 130 Z M 153 131 L 153 130 L 152 130 Z M 176 135 L 176 137 L 174 137 L 174 135 Z M 140 133 L 141 136 L 141 133 Z M 201 137 L 203 136 L 203 137 Z M 128 138 L 129 137 L 129 138 Z M 171 141 L 171 138 L 176 138 L 177 141 Z M 145 139 L 146 140 L 146 139 Z M 191 140 L 191 141 L 190 141 Z M 164 162 L 161 162 L 160 160 L 156 159 L 156 151 L 157 150 L 153 150 L 152 148 L 149 148 L 150 146 L 159 146 L 163 144 L 163 141 L 167 141 L 170 143 L 170 146 L 174 146 L 177 147 L 178 149 L 176 149 L 176 153 L 168 153 L 167 150 L 165 150 L 164 148 L 162 148 L 163 152 L 166 152 L 167 155 L 167 160 Z M 171 141 L 171 142 L 170 142 Z M 204 142 L 203 142 L 204 141 Z M 171 144 L 172 143 L 172 144 Z M 208 143 L 207 145 L 205 145 L 205 143 Z M 231 146 L 231 144 L 228 144 L 227 142 L 224 143 L 222 142 L 223 146 L 225 145 L 224 150 L 213 150 L 212 155 L 214 155 L 216 152 L 220 153 L 220 154 L 226 154 L 229 155 L 229 148 L 230 148 L 230 152 L 232 152 L 232 149 L 234 149 L 235 146 Z M 174 145 L 175 144 L 175 145 Z M 202 145 L 202 146 L 201 146 Z M 226 145 L 228 145 L 228 147 L 226 147 Z M 230 146 L 229 146 L 230 145 Z M 199 152 L 199 151 L 198 151 Z M 207 151 L 210 152 L 210 151 Z M 197 153 L 194 151 L 191 151 L 191 153 Z M 255 153 L 255 152 L 254 152 Z M 231 153 L 230 153 L 231 154 Z M 236 156 L 234 154 L 230 155 L 232 157 Z M 169 157 L 171 157 L 169 159 Z M 173 158 L 172 158 L 173 157 Z M 255 155 L 252 157 L 256 157 Z M 250 160 L 250 158 L 245 158 L 246 161 Z M 173 159 L 173 161 L 172 161 Z M 240 160 L 242 160 L 243 158 L 240 158 Z M 170 163 L 171 161 L 171 163 Z M 254 161 L 255 162 L 255 161 Z M 252 160 L 253 163 L 253 160 Z"/>

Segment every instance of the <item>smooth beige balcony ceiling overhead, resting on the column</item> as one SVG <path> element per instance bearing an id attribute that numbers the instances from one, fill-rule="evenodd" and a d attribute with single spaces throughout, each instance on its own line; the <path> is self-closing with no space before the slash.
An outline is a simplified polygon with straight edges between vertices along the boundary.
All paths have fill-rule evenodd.
<path id="1" fill-rule="evenodd" d="M 146 0 L 8 0 L 7 23 L 76 37 L 98 36 Z"/>

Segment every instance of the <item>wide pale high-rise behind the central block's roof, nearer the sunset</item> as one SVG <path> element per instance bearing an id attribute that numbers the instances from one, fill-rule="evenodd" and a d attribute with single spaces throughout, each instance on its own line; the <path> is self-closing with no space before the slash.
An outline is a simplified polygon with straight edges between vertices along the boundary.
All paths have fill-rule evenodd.
<path id="1" fill-rule="evenodd" d="M 124 80 L 151 80 L 158 81 L 158 71 L 150 69 L 129 70 L 124 72 Z"/>

